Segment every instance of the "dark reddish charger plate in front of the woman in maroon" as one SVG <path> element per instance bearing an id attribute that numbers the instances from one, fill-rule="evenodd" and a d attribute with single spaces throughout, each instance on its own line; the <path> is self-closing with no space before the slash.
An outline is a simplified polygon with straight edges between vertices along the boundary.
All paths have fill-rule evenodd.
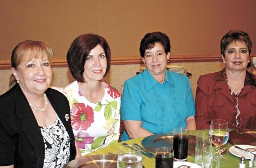
<path id="1" fill-rule="evenodd" d="M 256 146 L 256 129 L 235 129 L 229 132 L 229 141 L 233 144 Z"/>

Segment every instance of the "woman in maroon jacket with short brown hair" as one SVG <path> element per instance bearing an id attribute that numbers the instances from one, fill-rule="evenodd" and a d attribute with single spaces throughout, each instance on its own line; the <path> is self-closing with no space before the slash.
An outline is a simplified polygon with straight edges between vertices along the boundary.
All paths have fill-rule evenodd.
<path id="1" fill-rule="evenodd" d="M 256 128 L 256 75 L 247 71 L 252 41 L 246 32 L 230 30 L 221 40 L 225 68 L 199 77 L 196 124 L 209 129 L 212 119 L 223 119 L 233 129 Z"/>

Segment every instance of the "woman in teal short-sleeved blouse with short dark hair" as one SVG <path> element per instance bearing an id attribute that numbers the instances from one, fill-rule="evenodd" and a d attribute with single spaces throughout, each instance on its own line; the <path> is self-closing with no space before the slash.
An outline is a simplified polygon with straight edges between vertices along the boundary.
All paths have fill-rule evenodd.
<path id="1" fill-rule="evenodd" d="M 139 48 L 147 69 L 124 83 L 121 140 L 172 132 L 176 127 L 196 129 L 190 82 L 182 74 L 167 72 L 170 41 L 161 32 L 148 33 Z"/>

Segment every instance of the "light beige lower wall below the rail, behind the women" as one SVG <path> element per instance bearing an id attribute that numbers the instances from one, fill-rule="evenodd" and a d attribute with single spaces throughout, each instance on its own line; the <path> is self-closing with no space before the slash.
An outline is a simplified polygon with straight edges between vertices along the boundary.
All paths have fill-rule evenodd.
<path id="1" fill-rule="evenodd" d="M 201 74 L 223 69 L 222 62 L 175 63 L 173 65 L 184 66 L 188 72 L 192 73 L 190 82 L 194 96 L 197 88 L 197 79 Z M 139 67 L 139 64 L 112 65 L 104 80 L 120 91 L 121 84 L 123 84 L 126 79 L 135 76 L 135 73 L 139 71 Z M 0 76 L 3 77 L 2 80 L 0 80 L 0 95 L 8 90 L 10 74 L 10 70 L 0 70 Z M 64 87 L 72 81 L 74 81 L 74 79 L 71 77 L 68 67 L 53 68 L 52 86 Z"/>

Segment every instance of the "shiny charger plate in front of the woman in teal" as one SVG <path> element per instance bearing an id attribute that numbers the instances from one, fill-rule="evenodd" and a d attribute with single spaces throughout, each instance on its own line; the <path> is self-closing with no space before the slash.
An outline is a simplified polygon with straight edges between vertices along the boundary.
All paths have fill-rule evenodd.
<path id="1" fill-rule="evenodd" d="M 141 142 L 142 146 L 155 153 L 156 148 L 159 147 L 172 147 L 173 146 L 173 133 L 161 133 L 147 136 Z M 194 155 L 196 148 L 196 136 L 188 136 L 188 156 Z"/>

